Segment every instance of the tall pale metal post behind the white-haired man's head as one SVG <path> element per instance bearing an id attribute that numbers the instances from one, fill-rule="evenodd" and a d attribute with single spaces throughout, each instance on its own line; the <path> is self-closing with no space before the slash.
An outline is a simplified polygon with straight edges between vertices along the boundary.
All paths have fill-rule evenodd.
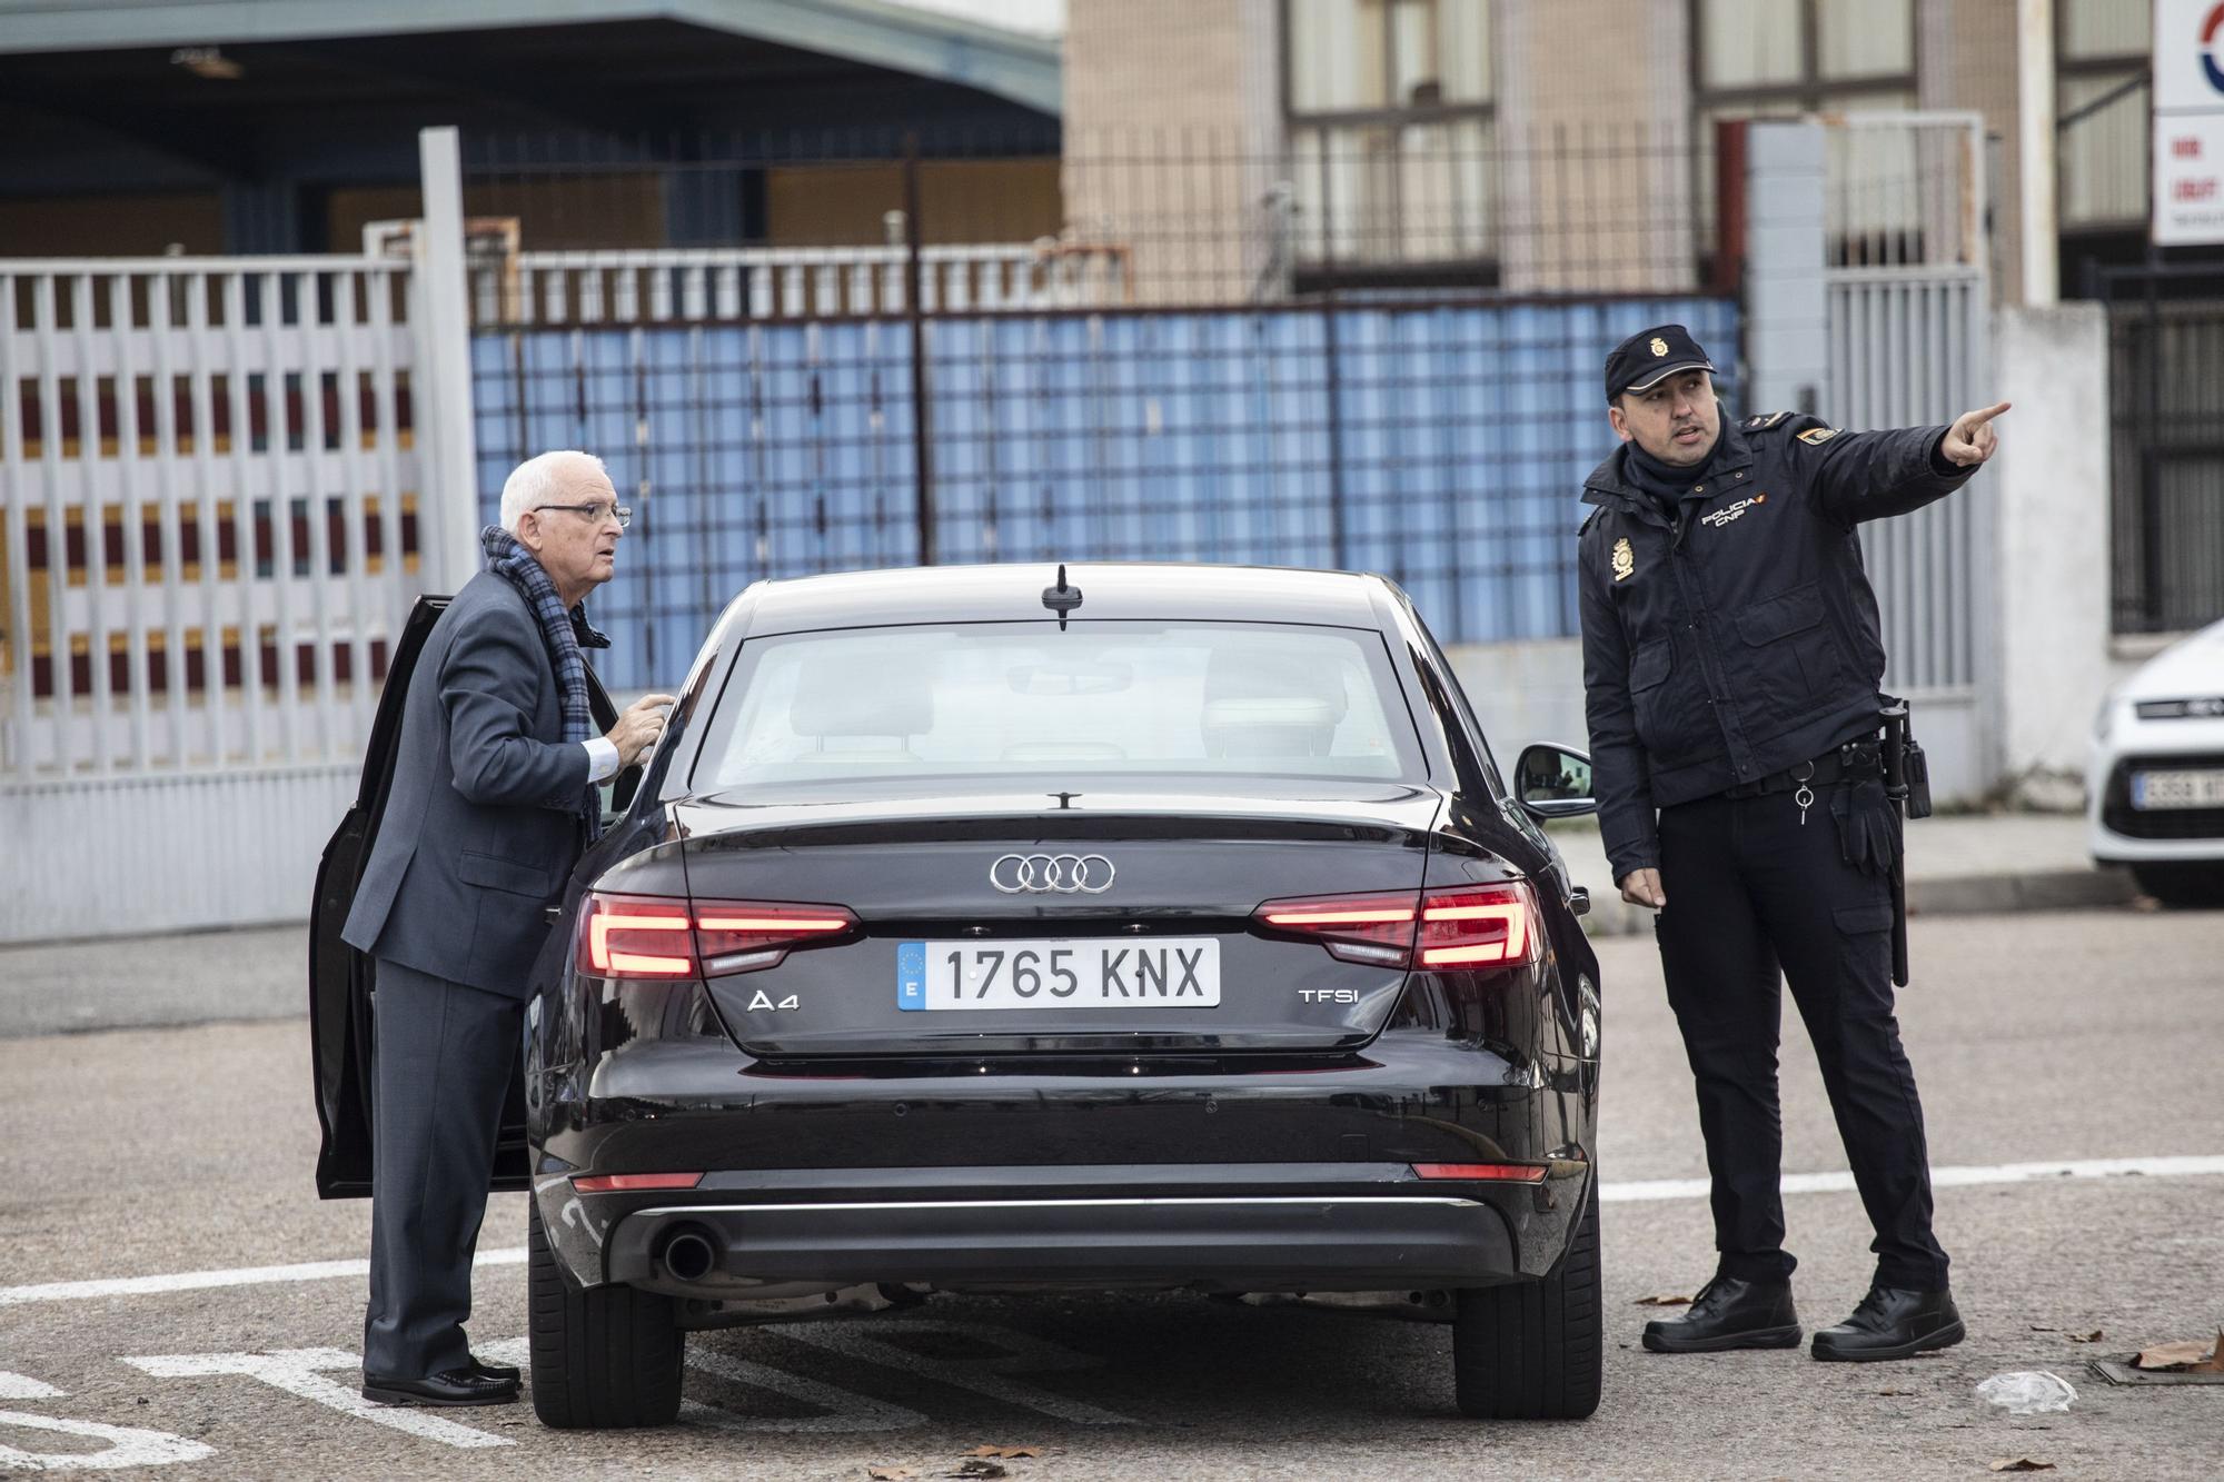
<path id="1" fill-rule="evenodd" d="M 463 265 L 463 151 L 456 129 L 418 129 L 425 225 L 416 234 L 409 336 L 425 396 L 416 403 L 423 487 L 440 583 L 478 572 L 478 434 L 471 425 L 471 300 Z M 427 432 L 431 436 L 427 436 Z"/>

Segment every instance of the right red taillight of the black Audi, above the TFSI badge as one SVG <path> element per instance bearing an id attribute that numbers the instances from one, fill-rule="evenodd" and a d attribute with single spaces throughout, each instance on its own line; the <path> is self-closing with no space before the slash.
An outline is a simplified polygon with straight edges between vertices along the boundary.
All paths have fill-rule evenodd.
<path id="1" fill-rule="evenodd" d="M 1539 950 L 1537 897 L 1526 881 L 1283 899 L 1252 919 L 1270 932 L 1312 937 L 1343 961 L 1383 968 L 1488 968 L 1535 961 Z"/>

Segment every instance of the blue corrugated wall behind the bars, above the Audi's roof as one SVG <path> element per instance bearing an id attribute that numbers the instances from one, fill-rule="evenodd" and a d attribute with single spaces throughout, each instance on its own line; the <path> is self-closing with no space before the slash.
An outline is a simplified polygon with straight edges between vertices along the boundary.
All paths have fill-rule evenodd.
<path id="1" fill-rule="evenodd" d="M 1346 565 L 1446 643 L 1566 636 L 1599 365 L 1668 320 L 1732 354 L 1719 298 L 934 318 L 936 554 Z M 919 559 L 910 354 L 901 320 L 480 334 L 487 518 L 520 458 L 600 454 L 636 518 L 596 668 L 672 685 L 749 581 Z"/>

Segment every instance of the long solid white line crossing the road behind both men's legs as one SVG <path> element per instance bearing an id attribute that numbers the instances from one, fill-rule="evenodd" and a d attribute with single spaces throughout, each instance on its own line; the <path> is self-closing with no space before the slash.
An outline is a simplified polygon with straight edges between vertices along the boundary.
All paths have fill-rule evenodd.
<path id="1" fill-rule="evenodd" d="M 2146 1175 L 2180 1179 L 2224 1173 L 2224 1155 L 2195 1157 L 2086 1157 L 2053 1164 L 1986 1164 L 1933 1168 L 1933 1188 L 1970 1188 L 1979 1184 L 2035 1184 L 2048 1179 L 2113 1179 Z M 1786 1173 L 1784 1193 L 1850 1193 L 1850 1173 Z M 1659 1199 L 1704 1199 L 1706 1179 L 1635 1179 L 1608 1184 L 1599 1197 L 1606 1204 L 1646 1204 Z M 480 1251 L 478 1266 L 520 1266 L 525 1246 Z M 331 1277 L 369 1277 L 371 1264 L 309 1262 L 302 1266 L 240 1266 L 236 1271 L 176 1271 L 151 1277 L 109 1277 L 98 1282 L 42 1282 L 36 1286 L 0 1286 L 0 1306 L 18 1302 L 80 1302 L 87 1297 L 149 1297 L 171 1291 L 207 1291 L 211 1286 L 260 1286 L 269 1282 L 320 1282 Z"/>

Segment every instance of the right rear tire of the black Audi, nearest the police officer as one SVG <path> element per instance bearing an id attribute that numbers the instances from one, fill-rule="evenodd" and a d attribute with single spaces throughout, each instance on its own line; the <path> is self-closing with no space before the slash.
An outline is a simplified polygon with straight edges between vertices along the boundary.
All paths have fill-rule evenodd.
<path id="1" fill-rule="evenodd" d="M 1586 1420 L 1606 1371 L 1599 1182 L 1592 1173 L 1568 1251 L 1541 1282 L 1475 1286 L 1452 1320 L 1459 1413 L 1475 1420 Z"/>

